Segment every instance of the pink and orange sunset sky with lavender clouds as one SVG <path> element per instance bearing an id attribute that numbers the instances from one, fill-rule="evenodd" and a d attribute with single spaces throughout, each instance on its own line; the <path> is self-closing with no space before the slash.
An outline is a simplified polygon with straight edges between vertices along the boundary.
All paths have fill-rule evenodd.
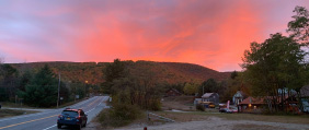
<path id="1" fill-rule="evenodd" d="M 250 43 L 283 33 L 307 0 L 0 0 L 0 57 L 188 62 L 242 70 Z"/>

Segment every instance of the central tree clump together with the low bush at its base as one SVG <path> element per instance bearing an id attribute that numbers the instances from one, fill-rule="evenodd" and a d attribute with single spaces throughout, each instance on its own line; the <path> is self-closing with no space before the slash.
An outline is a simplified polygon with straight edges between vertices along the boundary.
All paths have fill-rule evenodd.
<path id="1" fill-rule="evenodd" d="M 103 70 L 103 90 L 113 101 L 112 107 L 99 115 L 103 127 L 122 127 L 139 119 L 144 110 L 161 109 L 162 86 L 154 79 L 156 73 L 147 69 L 133 72 L 129 68 L 134 63 L 115 59 Z"/>

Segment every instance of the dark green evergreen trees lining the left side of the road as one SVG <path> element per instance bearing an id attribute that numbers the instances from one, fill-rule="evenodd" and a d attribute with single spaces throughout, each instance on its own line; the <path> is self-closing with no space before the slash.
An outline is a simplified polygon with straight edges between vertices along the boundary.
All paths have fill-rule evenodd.
<path id="1" fill-rule="evenodd" d="M 59 75 L 48 67 L 35 71 L 19 71 L 10 64 L 0 64 L 0 102 L 24 103 L 35 107 L 57 105 Z M 60 81 L 60 104 L 72 102 L 76 95 L 83 98 L 95 87 L 79 81 Z"/>

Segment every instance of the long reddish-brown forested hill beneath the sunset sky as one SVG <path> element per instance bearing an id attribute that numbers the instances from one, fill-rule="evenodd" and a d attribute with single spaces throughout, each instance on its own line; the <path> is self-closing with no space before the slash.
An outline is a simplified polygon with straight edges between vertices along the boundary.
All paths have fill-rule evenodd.
<path id="1" fill-rule="evenodd" d="M 126 61 L 131 74 L 139 74 L 141 71 L 151 70 L 153 76 L 159 82 L 184 83 L 190 81 L 203 82 L 210 78 L 222 81 L 230 76 L 230 72 L 218 72 L 198 64 L 180 62 L 154 62 L 154 61 Z M 45 64 L 48 64 L 55 73 L 61 73 L 61 80 L 68 82 L 85 82 L 90 84 L 100 84 L 104 82 L 102 70 L 107 62 L 30 62 L 11 63 L 20 72 L 26 70 L 37 71 Z"/>

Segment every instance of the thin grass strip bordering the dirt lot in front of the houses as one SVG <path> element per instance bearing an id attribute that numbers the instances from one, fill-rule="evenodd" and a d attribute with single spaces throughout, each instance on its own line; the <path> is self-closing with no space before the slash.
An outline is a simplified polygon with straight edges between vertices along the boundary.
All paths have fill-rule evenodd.
<path id="1" fill-rule="evenodd" d="M 157 111 L 156 114 L 174 119 L 176 121 L 205 120 L 207 117 L 218 117 L 227 120 L 252 120 L 252 121 L 267 121 L 267 122 L 283 122 L 283 123 L 309 123 L 309 115 L 300 116 L 268 116 L 254 114 L 218 114 L 218 113 L 173 113 L 173 111 Z M 188 118 L 185 119 L 184 118 Z"/>

